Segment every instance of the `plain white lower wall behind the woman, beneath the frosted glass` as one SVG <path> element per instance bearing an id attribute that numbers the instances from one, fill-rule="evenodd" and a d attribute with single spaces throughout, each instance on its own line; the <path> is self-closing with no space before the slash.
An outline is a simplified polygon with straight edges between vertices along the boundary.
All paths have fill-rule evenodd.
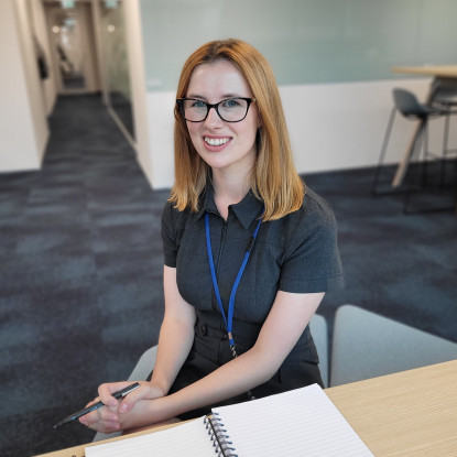
<path id="1" fill-rule="evenodd" d="M 298 173 L 372 166 L 392 109 L 392 89 L 405 87 L 424 101 L 431 79 L 338 83 L 280 87 Z M 175 93 L 148 93 L 151 182 L 173 185 L 173 108 Z M 387 162 L 400 162 L 415 123 L 396 116 Z M 450 144 L 457 143 L 457 132 Z M 431 126 L 431 146 L 439 152 L 443 121 Z"/>

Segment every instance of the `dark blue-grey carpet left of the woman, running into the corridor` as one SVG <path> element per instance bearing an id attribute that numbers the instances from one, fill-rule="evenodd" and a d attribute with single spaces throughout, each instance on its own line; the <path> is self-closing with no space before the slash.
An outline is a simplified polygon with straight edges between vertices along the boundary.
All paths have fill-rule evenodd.
<path id="1" fill-rule="evenodd" d="M 2 456 L 90 439 L 52 425 L 127 376 L 162 318 L 167 193 L 151 191 L 99 96 L 61 97 L 50 124 L 42 171 L 0 175 Z"/>

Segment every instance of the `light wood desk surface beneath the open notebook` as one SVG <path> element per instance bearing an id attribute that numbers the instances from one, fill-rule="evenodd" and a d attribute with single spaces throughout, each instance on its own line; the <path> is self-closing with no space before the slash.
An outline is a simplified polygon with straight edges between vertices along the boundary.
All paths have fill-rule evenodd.
<path id="1" fill-rule="evenodd" d="M 457 456 L 457 360 L 338 385 L 326 393 L 377 457 Z M 144 433 L 149 432 L 130 436 Z M 41 457 L 83 457 L 84 448 Z"/>

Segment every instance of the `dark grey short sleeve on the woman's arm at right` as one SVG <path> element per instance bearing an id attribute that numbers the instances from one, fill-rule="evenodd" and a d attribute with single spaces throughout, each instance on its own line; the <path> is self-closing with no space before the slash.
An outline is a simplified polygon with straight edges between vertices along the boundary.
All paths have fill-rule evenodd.
<path id="1" fill-rule="evenodd" d="M 280 290 L 317 293 L 341 287 L 337 225 L 330 206 L 313 193 L 298 213 L 281 269 Z"/>

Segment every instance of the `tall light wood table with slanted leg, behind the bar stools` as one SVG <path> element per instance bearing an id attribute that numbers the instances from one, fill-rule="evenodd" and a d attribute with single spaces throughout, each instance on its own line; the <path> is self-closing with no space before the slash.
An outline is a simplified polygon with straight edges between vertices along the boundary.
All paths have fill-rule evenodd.
<path id="1" fill-rule="evenodd" d="M 436 90 L 440 87 L 455 88 L 457 93 L 457 65 L 434 65 L 434 66 L 418 66 L 418 67 L 393 67 L 393 73 L 403 73 L 420 76 L 433 76 L 433 81 L 427 95 L 427 104 L 431 104 L 435 97 Z M 422 130 L 425 128 L 424 121 L 420 122 L 411 143 L 400 162 L 395 176 L 392 181 L 392 186 L 396 187 L 403 183 L 404 175 L 406 174 L 407 166 L 414 152 L 414 144 Z"/>

